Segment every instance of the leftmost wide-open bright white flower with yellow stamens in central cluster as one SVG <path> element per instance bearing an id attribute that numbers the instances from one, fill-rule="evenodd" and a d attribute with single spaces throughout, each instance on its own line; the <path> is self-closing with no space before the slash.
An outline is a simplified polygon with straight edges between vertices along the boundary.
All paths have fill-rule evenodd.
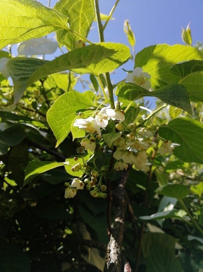
<path id="1" fill-rule="evenodd" d="M 88 117 L 87 119 L 76 119 L 73 124 L 74 127 L 85 130 L 86 132 L 95 133 L 97 132 L 101 136 L 100 127 L 93 117 Z"/>

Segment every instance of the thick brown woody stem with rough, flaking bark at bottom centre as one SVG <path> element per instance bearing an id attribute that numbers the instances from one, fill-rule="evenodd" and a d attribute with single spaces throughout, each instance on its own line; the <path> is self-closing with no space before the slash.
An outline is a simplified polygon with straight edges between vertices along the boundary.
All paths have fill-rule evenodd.
<path id="1" fill-rule="evenodd" d="M 108 272 L 121 272 L 123 270 L 121 261 L 121 245 L 124 233 L 125 210 L 127 207 L 127 193 L 124 186 L 127 181 L 128 174 L 129 170 L 122 172 L 121 183 L 116 188 L 115 194 L 113 195 L 115 214 L 110 241 L 107 247 L 106 263 Z"/>

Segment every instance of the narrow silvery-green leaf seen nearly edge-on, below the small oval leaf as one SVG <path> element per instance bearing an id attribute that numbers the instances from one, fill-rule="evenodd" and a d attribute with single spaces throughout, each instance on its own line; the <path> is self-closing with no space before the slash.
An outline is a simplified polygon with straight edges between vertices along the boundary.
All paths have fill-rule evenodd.
<path id="1" fill-rule="evenodd" d="M 184 210 L 172 209 L 170 211 L 157 212 L 152 215 L 140 216 L 139 218 L 142 220 L 159 220 L 159 219 L 167 219 L 167 218 L 178 218 L 182 219 L 187 212 Z"/>

